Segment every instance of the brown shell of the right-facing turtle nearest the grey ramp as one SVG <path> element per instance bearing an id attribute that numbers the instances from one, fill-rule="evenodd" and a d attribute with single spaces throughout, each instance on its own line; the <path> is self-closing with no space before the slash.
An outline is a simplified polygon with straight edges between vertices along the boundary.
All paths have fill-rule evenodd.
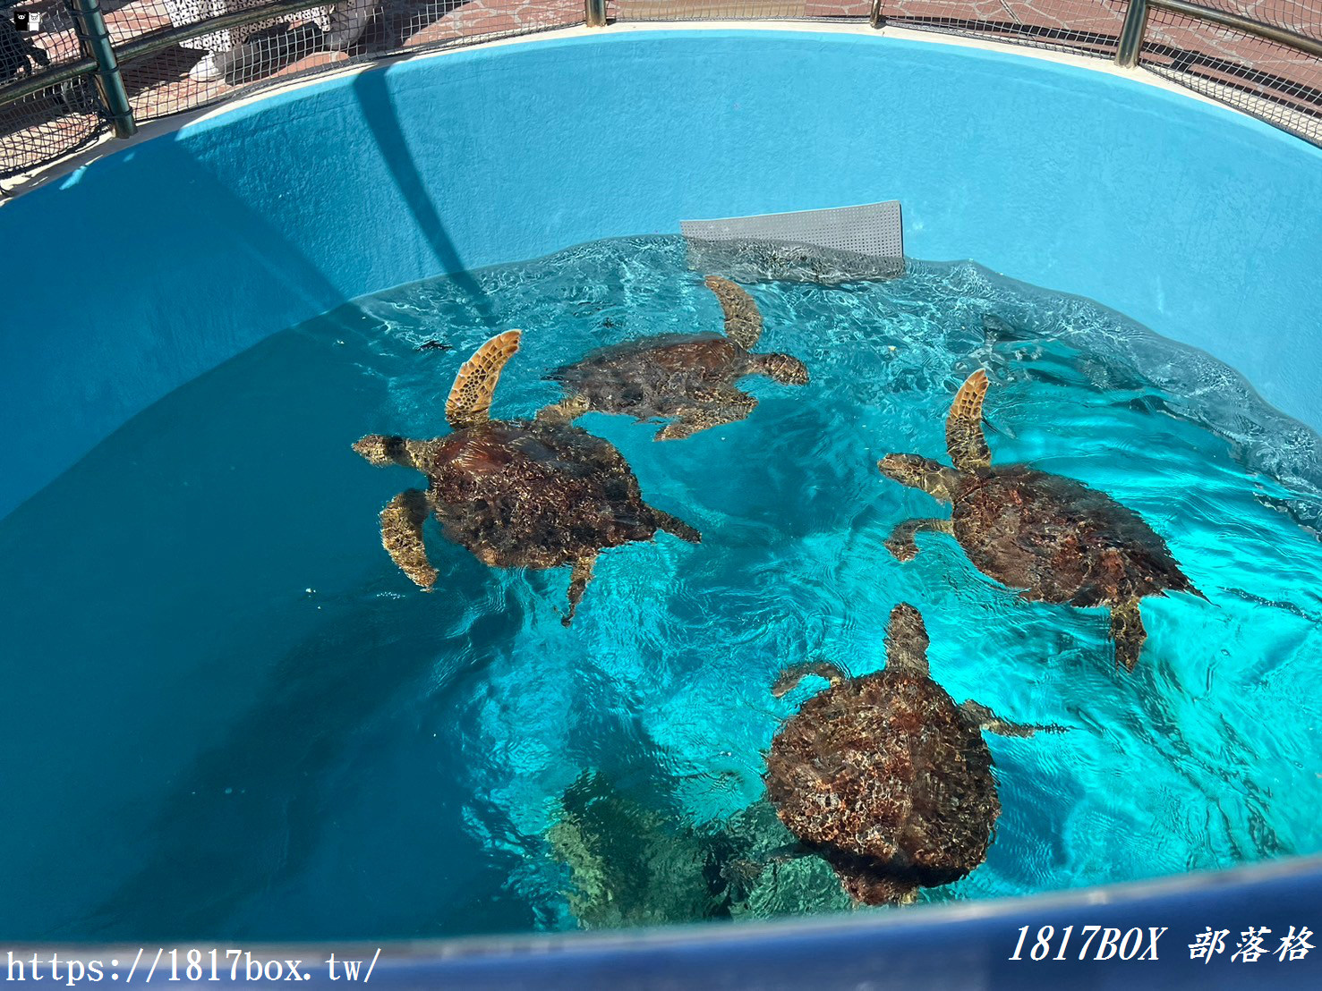
<path id="1" fill-rule="evenodd" d="M 748 353 L 728 337 L 664 334 L 598 349 L 546 378 L 599 412 L 649 419 L 705 402 L 747 369 Z"/>

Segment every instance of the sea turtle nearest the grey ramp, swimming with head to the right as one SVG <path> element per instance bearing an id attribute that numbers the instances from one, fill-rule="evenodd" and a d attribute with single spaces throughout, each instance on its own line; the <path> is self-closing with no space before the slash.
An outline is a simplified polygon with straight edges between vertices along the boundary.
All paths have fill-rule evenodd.
<path id="1" fill-rule="evenodd" d="M 735 387 L 744 375 L 768 375 L 787 386 L 808 383 L 808 369 L 788 354 L 754 354 L 761 313 L 752 296 L 728 279 L 706 280 L 726 314 L 726 333 L 660 334 L 600 348 L 574 365 L 547 373 L 566 398 L 543 411 L 575 419 L 590 411 L 628 414 L 639 422 L 674 418 L 657 440 L 687 437 L 752 412 L 758 400 Z"/>

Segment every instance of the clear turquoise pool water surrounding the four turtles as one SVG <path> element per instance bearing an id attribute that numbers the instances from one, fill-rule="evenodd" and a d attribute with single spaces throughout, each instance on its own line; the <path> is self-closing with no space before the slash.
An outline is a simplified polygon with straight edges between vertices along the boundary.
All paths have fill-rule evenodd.
<path id="1" fill-rule="evenodd" d="M 802 358 L 812 385 L 748 379 L 751 419 L 668 444 L 580 422 L 703 543 L 607 552 L 568 630 L 567 572 L 492 571 L 436 532 L 439 591 L 416 592 L 377 513 L 419 478 L 349 444 L 444 432 L 457 365 L 496 330 L 526 332 L 496 400 L 518 416 L 555 398 L 547 367 L 587 349 L 718 329 L 678 239 L 348 304 L 167 396 L 0 522 L 0 936 L 574 928 L 546 838 L 566 789 L 598 772 L 677 846 L 756 834 L 764 854 L 775 830 L 747 827 L 761 753 L 808 690 L 768 686 L 805 657 L 880 667 L 902 600 L 956 699 L 1071 727 L 990 737 L 995 842 L 925 899 L 1322 850 L 1315 435 L 1207 355 L 973 264 L 751 291 L 763 350 Z M 418 350 L 428 340 L 455 350 Z M 994 457 L 1138 510 L 1211 600 L 1145 600 L 1132 677 L 1104 613 L 1023 604 L 948 538 L 906 566 L 883 548 L 939 507 L 878 457 L 941 456 L 953 390 L 980 365 Z M 768 871 L 724 914 L 841 908 L 820 868 Z"/>

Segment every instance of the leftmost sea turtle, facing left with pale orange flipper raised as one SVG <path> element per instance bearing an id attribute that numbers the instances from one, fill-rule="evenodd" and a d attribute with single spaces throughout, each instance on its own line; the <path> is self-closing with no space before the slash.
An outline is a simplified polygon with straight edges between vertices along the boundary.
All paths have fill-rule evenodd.
<path id="1" fill-rule="evenodd" d="M 427 492 L 402 492 L 381 513 L 381 539 L 420 588 L 436 569 L 423 548 L 428 513 L 443 532 L 498 568 L 574 567 L 566 626 L 592 579 L 599 551 L 650 540 L 657 530 L 698 543 L 687 523 L 642 502 L 639 481 L 612 444 L 554 416 L 492 420 L 501 369 L 520 332 L 484 344 L 449 390 L 453 433 L 434 440 L 371 435 L 353 449 L 374 465 L 406 465 L 427 476 Z"/>

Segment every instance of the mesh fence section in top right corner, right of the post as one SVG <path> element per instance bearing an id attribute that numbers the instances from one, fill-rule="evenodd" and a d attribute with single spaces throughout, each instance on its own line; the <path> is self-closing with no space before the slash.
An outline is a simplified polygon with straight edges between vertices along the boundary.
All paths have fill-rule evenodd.
<path id="1" fill-rule="evenodd" d="M 1311 16 L 1318 18 L 1322 0 L 1305 3 L 1315 5 Z M 1290 7 L 1296 13 L 1302 11 L 1298 4 Z M 1315 24 L 1313 30 L 1318 30 Z M 1322 145 L 1322 58 L 1317 55 L 1150 8 L 1140 65 Z"/>

